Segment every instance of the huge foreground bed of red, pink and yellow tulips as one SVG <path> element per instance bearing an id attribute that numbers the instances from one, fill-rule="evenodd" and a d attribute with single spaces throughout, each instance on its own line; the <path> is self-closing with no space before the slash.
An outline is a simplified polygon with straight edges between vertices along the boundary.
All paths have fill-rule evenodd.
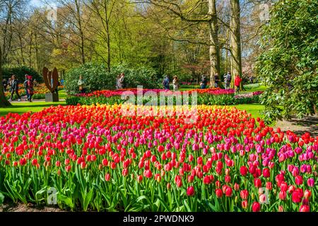
<path id="1" fill-rule="evenodd" d="M 234 107 L 198 106 L 193 124 L 180 107 L 156 117 L 121 107 L 0 117 L 0 203 L 45 205 L 53 188 L 66 210 L 318 210 L 318 137 Z"/>

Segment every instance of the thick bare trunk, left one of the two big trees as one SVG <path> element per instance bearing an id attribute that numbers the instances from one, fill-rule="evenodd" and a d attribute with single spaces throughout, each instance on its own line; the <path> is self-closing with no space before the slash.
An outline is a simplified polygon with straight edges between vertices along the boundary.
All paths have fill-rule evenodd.
<path id="1" fill-rule="evenodd" d="M 220 47 L 218 44 L 218 19 L 216 17 L 216 0 L 208 0 L 208 23 L 210 33 L 210 86 L 214 87 L 214 75 L 220 78 Z"/>

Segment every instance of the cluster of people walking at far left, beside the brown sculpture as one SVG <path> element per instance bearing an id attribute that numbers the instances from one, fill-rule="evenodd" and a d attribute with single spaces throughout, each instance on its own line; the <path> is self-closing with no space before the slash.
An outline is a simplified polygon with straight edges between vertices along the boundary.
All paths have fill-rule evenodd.
<path id="1" fill-rule="evenodd" d="M 32 96 L 34 94 L 34 84 L 36 83 L 36 81 L 33 81 L 33 77 L 29 76 L 28 74 L 25 75 L 25 81 L 23 82 L 23 87 L 25 88 L 25 93 L 27 96 L 27 101 L 32 102 Z M 16 77 L 16 75 L 12 75 L 11 78 L 8 79 L 8 81 L 6 81 L 6 79 L 4 79 L 2 81 L 2 85 L 4 87 L 4 92 L 6 92 L 6 90 L 9 88 L 9 92 L 10 92 L 10 99 L 9 101 L 13 100 L 13 95 L 16 94 L 16 96 L 18 97 L 18 101 L 21 101 L 21 96 L 19 94 L 19 81 Z"/>

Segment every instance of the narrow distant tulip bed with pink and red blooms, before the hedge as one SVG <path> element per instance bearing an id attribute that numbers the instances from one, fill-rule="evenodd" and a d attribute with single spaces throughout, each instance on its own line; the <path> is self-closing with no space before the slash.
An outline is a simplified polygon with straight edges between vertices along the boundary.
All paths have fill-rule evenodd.
<path id="1" fill-rule="evenodd" d="M 143 95 L 151 91 L 158 95 L 158 105 L 160 103 L 160 92 L 164 93 L 166 96 L 175 95 L 174 92 L 170 90 L 142 90 Z M 69 96 L 66 98 L 67 105 L 114 105 L 122 104 L 126 100 L 122 98 L 124 92 L 130 92 L 135 95 L 135 104 L 137 102 L 137 89 L 126 89 L 126 90 L 100 90 L 93 93 L 88 93 L 84 95 Z M 179 92 L 183 95 L 184 93 L 189 93 L 189 103 L 191 104 L 192 93 L 196 92 L 197 104 L 198 105 L 237 105 L 237 104 L 247 104 L 252 102 L 259 102 L 259 93 L 255 93 L 252 96 L 235 98 L 235 90 L 222 90 L 219 88 L 211 88 L 204 90 L 189 90 L 187 92 Z M 182 97 L 183 98 L 183 97 Z M 149 97 L 143 97 L 143 104 L 149 102 Z M 176 101 L 174 101 L 176 104 Z M 166 99 L 167 105 L 167 99 Z"/>

